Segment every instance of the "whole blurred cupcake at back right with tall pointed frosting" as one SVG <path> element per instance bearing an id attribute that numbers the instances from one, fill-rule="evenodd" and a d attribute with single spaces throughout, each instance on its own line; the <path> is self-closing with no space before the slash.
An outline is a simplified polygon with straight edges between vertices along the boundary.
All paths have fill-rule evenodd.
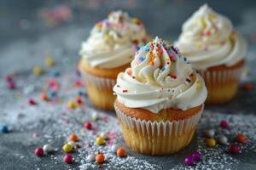
<path id="1" fill-rule="evenodd" d="M 205 4 L 183 24 L 175 45 L 204 78 L 206 103 L 221 104 L 234 97 L 245 65 L 247 43 L 229 19 Z"/>

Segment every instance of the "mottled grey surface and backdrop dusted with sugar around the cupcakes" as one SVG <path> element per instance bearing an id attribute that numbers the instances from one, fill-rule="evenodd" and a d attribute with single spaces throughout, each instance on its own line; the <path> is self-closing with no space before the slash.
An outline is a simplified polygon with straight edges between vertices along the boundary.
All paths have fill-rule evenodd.
<path id="1" fill-rule="evenodd" d="M 150 35 L 164 37 L 172 42 L 177 39 L 181 25 L 203 3 L 201 1 L 1 1 L 0 2 L 0 125 L 8 125 L 9 133 L 0 133 L 0 169 L 95 169 L 98 165 L 86 160 L 90 153 L 102 151 L 107 160 L 103 169 L 255 169 L 256 168 L 256 89 L 246 91 L 245 82 L 255 85 L 256 71 L 256 3 L 247 1 L 211 1 L 212 8 L 227 15 L 236 30 L 248 42 L 247 74 L 242 77 L 241 88 L 235 99 L 225 105 L 206 106 L 197 133 L 189 146 L 172 156 L 143 156 L 129 150 L 122 139 L 113 112 L 94 109 L 82 96 L 83 105 L 67 109 L 67 102 L 83 91 L 78 85 L 80 77 L 75 73 L 79 61 L 80 42 L 88 37 L 90 28 L 112 9 L 124 9 L 131 16 L 143 20 Z M 66 3 L 65 3 L 66 2 Z M 101 4 L 100 4 L 101 3 Z M 55 8 L 55 10 L 52 10 Z M 59 10 L 62 8 L 63 10 Z M 49 11 L 63 14 L 49 20 Z M 61 12 L 60 12 L 61 11 Z M 64 11 L 64 12 L 63 12 Z M 66 14 L 66 15 L 65 15 Z M 45 55 L 55 60 L 55 65 L 44 65 Z M 41 66 L 43 74 L 32 75 L 32 68 Z M 59 77 L 53 77 L 59 72 Z M 14 75 L 15 90 L 6 88 L 4 77 Z M 57 98 L 52 102 L 40 100 L 41 91 L 54 78 L 60 84 Z M 76 85 L 74 85 L 76 84 Z M 37 105 L 27 105 L 35 99 Z M 93 122 L 92 116 L 98 116 Z M 221 129 L 221 120 L 229 122 L 228 129 Z M 83 128 L 83 122 L 92 122 L 94 131 Z M 241 153 L 230 155 L 228 146 L 209 148 L 202 132 L 214 128 L 217 136 L 224 134 L 233 142 L 236 133 L 247 136 L 247 144 L 241 144 Z M 71 133 L 77 133 L 82 148 L 73 151 L 74 162 L 62 161 L 61 146 Z M 108 144 L 94 144 L 102 132 L 111 133 Z M 110 151 L 113 143 L 122 145 L 128 154 L 117 158 Z M 44 144 L 52 144 L 52 155 L 36 157 L 33 150 Z M 202 160 L 195 166 L 183 164 L 184 156 L 200 150 Z"/>

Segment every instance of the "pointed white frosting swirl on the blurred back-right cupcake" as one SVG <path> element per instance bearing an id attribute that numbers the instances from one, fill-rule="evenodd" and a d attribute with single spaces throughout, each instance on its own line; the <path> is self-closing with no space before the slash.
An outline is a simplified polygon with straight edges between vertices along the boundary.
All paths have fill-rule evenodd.
<path id="1" fill-rule="evenodd" d="M 175 44 L 195 69 L 236 65 L 247 52 L 247 43 L 228 18 L 207 4 L 187 20 Z"/>

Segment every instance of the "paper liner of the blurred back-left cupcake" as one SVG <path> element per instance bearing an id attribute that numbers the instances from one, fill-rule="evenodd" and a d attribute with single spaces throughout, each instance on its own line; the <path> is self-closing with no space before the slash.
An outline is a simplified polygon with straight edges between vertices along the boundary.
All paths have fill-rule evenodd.
<path id="1" fill-rule="evenodd" d="M 98 108 L 113 111 L 113 102 L 116 99 L 116 96 L 113 95 L 113 86 L 116 81 L 86 73 L 83 73 L 83 77 L 91 103 Z"/>

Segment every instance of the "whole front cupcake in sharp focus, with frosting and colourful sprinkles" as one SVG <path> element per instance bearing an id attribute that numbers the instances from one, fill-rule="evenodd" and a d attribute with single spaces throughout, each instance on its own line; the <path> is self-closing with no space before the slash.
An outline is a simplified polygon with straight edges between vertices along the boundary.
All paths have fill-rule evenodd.
<path id="1" fill-rule="evenodd" d="M 158 156 L 189 144 L 207 99 L 201 76 L 177 48 L 158 37 L 137 51 L 113 91 L 125 143 Z"/>

